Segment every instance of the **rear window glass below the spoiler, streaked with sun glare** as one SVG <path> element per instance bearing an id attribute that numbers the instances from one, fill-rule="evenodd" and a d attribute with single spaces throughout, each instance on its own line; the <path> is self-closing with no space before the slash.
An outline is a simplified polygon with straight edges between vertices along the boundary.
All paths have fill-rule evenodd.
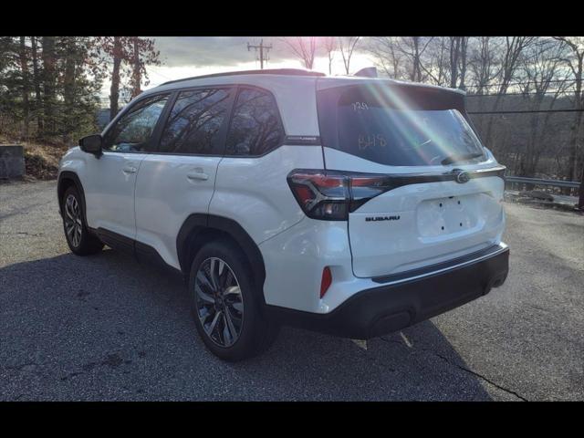
<path id="1" fill-rule="evenodd" d="M 323 144 L 371 162 L 393 166 L 431 166 L 442 162 L 483 161 L 485 154 L 458 109 L 392 108 L 354 93 L 336 103 L 336 129 L 322 124 Z M 321 111 L 319 111 L 319 118 Z M 321 128 L 323 127 L 321 126 Z M 331 141 L 330 129 L 336 130 Z M 472 155 L 479 155 L 470 158 Z"/>

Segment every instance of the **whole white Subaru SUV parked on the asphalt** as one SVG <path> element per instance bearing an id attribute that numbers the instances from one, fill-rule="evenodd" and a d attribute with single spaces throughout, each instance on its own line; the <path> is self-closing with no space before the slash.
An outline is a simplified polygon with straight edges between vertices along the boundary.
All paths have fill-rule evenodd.
<path id="1" fill-rule="evenodd" d="M 505 168 L 458 90 L 296 69 L 187 78 L 79 145 L 57 188 L 71 251 L 180 271 L 225 360 L 281 324 L 381 336 L 506 279 Z"/>

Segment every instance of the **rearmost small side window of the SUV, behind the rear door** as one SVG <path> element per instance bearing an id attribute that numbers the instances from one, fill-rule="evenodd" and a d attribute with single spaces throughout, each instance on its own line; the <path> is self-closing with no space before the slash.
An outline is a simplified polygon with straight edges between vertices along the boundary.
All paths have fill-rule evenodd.
<path id="1" fill-rule="evenodd" d="M 227 155 L 262 155 L 284 139 L 276 100 L 267 91 L 242 89 L 227 134 Z"/>

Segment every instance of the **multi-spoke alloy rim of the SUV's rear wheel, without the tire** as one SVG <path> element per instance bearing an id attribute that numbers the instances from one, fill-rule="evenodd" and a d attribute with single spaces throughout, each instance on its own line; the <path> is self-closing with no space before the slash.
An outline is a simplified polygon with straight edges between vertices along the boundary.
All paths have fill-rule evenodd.
<path id="1" fill-rule="evenodd" d="M 224 260 L 203 260 L 194 279 L 196 310 L 204 332 L 216 345 L 231 347 L 244 324 L 244 300 L 234 271 Z"/>

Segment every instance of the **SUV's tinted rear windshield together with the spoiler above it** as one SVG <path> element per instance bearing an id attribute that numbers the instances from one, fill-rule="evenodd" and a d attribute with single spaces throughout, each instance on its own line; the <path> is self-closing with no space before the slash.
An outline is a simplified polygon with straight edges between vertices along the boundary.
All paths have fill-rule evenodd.
<path id="1" fill-rule="evenodd" d="M 318 91 L 324 146 L 392 166 L 485 160 L 462 96 L 435 89 L 351 86 Z M 471 158 L 474 157 L 474 158 Z"/>

